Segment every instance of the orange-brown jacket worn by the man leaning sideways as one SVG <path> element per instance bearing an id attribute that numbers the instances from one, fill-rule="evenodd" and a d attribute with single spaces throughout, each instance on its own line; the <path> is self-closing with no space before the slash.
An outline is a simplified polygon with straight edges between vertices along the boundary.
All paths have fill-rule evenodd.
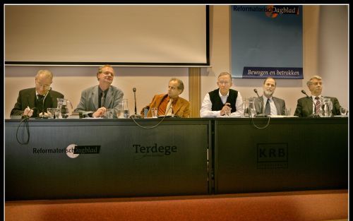
<path id="1" fill-rule="evenodd" d="M 151 108 L 160 107 L 160 103 L 162 102 L 163 98 L 167 96 L 167 94 L 162 94 L 155 95 L 155 97 L 153 97 L 152 102 L 148 106 L 144 107 L 149 109 L 147 117 L 152 117 Z M 140 112 L 141 116 L 143 116 L 143 109 Z M 190 117 L 190 102 L 182 97 L 179 97 L 177 103 L 173 106 L 173 112 L 174 115 L 177 115 L 179 117 Z"/>

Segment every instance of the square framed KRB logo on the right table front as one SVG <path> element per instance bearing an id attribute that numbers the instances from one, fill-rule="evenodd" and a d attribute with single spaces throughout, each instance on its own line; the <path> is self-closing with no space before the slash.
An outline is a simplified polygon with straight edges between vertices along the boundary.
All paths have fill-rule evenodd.
<path id="1" fill-rule="evenodd" d="M 258 143 L 257 168 L 288 168 L 287 143 Z"/>

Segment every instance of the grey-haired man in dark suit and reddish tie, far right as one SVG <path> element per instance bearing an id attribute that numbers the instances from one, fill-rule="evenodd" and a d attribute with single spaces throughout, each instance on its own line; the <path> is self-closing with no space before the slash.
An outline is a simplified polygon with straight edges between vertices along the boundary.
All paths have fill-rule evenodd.
<path id="1" fill-rule="evenodd" d="M 321 92 L 323 90 L 323 81 L 320 76 L 312 76 L 306 83 L 311 92 L 311 97 L 301 97 L 297 102 L 297 109 L 295 109 L 294 116 L 298 117 L 313 117 L 317 116 L 321 110 L 321 101 L 323 97 Z M 326 96 L 325 96 L 326 97 Z M 340 115 L 340 102 L 336 97 L 330 98 L 333 108 L 333 115 Z"/>

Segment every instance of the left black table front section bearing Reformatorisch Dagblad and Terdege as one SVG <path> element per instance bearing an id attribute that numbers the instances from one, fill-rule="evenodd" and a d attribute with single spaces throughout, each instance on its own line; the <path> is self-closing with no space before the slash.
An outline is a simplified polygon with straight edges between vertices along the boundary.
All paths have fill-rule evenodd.
<path id="1" fill-rule="evenodd" d="M 6 200 L 209 193 L 207 119 L 30 120 L 27 145 L 5 124 Z"/>

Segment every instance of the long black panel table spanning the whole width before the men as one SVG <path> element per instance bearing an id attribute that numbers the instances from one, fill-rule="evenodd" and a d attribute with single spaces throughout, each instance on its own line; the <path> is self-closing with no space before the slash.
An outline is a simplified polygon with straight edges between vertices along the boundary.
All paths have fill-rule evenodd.
<path id="1" fill-rule="evenodd" d="M 6 120 L 6 201 L 348 188 L 347 118 L 267 121 Z"/>

